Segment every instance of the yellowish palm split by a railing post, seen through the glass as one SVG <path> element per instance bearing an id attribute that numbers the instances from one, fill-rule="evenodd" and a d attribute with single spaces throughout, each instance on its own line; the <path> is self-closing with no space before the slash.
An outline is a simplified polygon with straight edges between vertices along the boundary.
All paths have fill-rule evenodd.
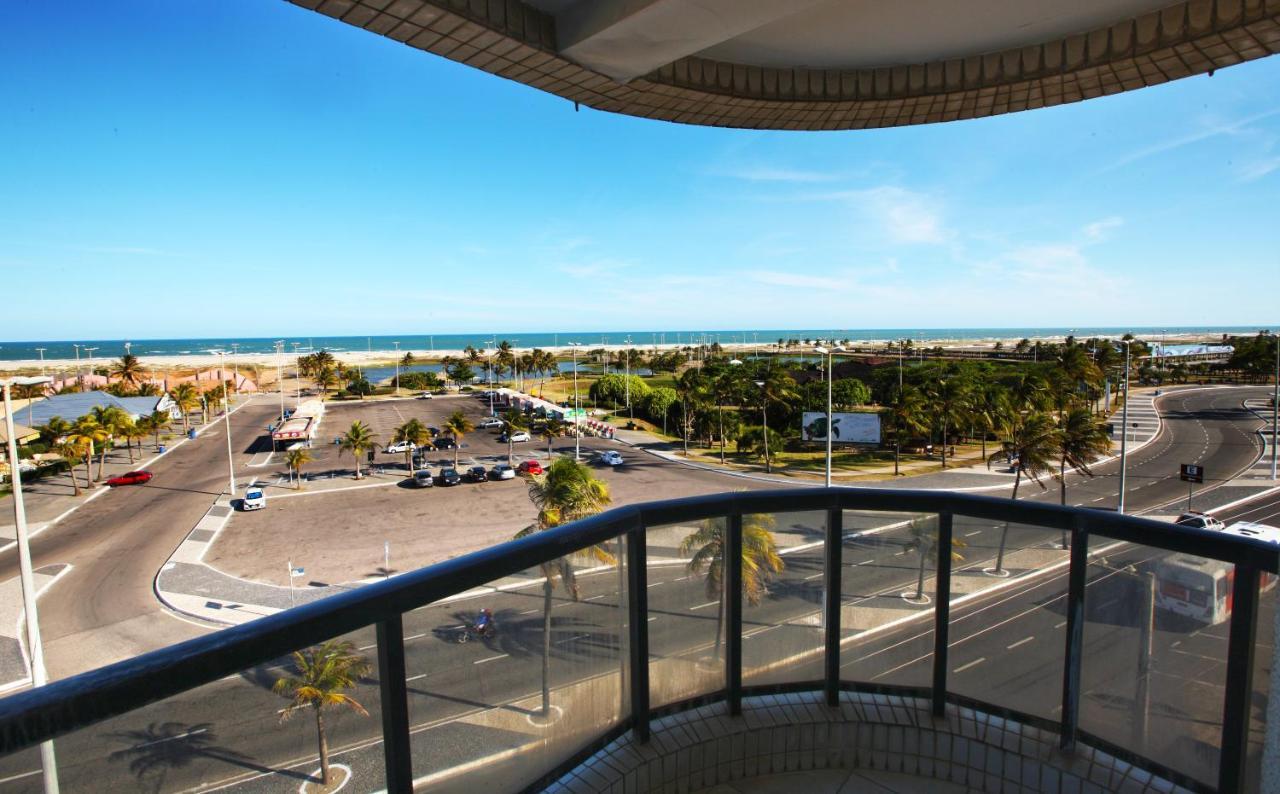
<path id="1" fill-rule="evenodd" d="M 781 574 L 785 563 L 773 538 L 772 514 L 742 516 L 742 598 L 753 607 L 768 594 L 768 583 Z M 689 572 L 705 571 L 707 597 L 719 602 L 716 612 L 716 658 L 719 660 L 721 634 L 724 629 L 724 547 L 728 520 L 707 519 L 696 531 L 680 542 L 680 555 L 689 556 Z"/>

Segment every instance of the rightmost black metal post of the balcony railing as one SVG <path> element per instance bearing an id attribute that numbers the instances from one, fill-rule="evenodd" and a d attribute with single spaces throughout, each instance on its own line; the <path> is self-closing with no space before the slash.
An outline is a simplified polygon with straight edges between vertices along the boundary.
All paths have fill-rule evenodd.
<path id="1" fill-rule="evenodd" d="M 1249 757 L 1249 702 L 1253 698 L 1253 652 L 1258 630 L 1258 569 L 1235 566 L 1231 584 L 1231 629 L 1226 640 L 1226 695 L 1222 703 L 1222 753 L 1219 794 L 1244 790 Z"/>

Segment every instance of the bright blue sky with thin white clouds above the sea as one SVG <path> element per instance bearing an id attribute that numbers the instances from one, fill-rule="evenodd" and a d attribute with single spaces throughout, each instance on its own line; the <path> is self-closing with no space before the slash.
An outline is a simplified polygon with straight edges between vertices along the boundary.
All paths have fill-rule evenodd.
<path id="1" fill-rule="evenodd" d="M 285 3 L 70 5 L 0 28 L 0 338 L 1276 320 L 1276 58 L 774 133 L 575 113 Z"/>

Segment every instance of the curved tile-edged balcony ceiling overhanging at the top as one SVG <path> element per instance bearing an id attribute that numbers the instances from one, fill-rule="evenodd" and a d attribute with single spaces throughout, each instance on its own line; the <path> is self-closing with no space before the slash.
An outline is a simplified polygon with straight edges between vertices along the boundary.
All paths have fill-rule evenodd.
<path id="1" fill-rule="evenodd" d="M 293 0 L 573 102 L 856 129 L 1117 93 L 1280 51 L 1280 0 Z"/>

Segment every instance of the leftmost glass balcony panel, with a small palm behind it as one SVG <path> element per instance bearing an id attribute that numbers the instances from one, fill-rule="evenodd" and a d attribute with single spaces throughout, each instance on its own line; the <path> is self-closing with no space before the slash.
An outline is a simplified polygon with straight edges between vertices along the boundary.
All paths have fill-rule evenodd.
<path id="1" fill-rule="evenodd" d="M 374 630 L 333 640 L 355 685 L 335 689 L 353 699 L 323 709 L 330 780 L 356 775 L 356 788 L 383 788 L 381 703 Z M 349 645 L 342 645 L 349 643 Z M 323 645 L 321 645 L 323 647 Z M 316 711 L 307 704 L 287 712 L 291 699 L 273 689 L 279 681 L 314 680 L 319 657 L 302 649 L 300 670 L 292 656 L 143 706 L 54 741 L 63 791 L 179 791 L 251 785 L 261 790 L 298 789 L 320 779 Z M 358 706 L 357 706 L 358 704 Z M 365 713 L 367 712 L 367 713 Z M 0 779 L 40 770 L 36 749 L 0 759 Z M 15 790 L 40 791 L 42 776 L 14 781 Z M 4 786 L 8 791 L 8 785 Z"/>

